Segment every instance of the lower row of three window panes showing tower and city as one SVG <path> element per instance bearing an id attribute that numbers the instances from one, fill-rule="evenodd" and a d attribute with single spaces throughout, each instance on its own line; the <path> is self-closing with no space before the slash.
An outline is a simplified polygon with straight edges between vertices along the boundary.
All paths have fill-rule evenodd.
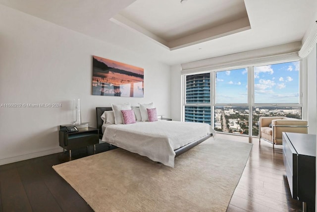
<path id="1" fill-rule="evenodd" d="M 249 116 L 252 122 L 249 123 Z M 247 106 L 214 106 L 211 114 L 210 106 L 185 106 L 185 122 L 199 122 L 211 124 L 217 132 L 249 135 L 259 135 L 258 121 L 260 117 L 281 116 L 302 119 L 302 107 L 252 107 L 250 114 Z"/>

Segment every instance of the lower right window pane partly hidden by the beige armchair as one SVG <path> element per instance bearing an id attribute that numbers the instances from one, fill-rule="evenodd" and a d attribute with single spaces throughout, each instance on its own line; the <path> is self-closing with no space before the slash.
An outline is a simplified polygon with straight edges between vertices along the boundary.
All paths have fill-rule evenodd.
<path id="1" fill-rule="evenodd" d="M 260 117 L 286 116 L 302 119 L 301 107 L 253 107 L 252 108 L 252 135 L 259 136 L 258 121 Z"/>

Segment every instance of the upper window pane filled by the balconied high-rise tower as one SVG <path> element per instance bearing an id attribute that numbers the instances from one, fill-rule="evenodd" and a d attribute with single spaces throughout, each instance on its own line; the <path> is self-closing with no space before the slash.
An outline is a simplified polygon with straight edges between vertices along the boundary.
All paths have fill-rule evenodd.
<path id="1" fill-rule="evenodd" d="M 186 76 L 186 103 L 210 103 L 210 73 Z"/>

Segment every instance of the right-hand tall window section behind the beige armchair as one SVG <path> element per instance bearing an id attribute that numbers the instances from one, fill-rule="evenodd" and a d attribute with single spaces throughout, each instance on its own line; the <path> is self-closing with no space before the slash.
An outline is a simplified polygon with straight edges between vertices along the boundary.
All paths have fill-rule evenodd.
<path id="1" fill-rule="evenodd" d="M 254 67 L 252 135 L 258 136 L 262 116 L 302 119 L 300 61 Z"/>

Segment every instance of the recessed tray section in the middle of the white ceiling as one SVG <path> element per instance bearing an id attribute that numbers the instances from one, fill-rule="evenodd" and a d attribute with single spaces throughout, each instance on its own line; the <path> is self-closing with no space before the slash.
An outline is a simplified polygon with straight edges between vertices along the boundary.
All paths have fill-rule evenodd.
<path id="1" fill-rule="evenodd" d="M 244 0 L 136 0 L 110 20 L 170 50 L 251 28 Z"/>

